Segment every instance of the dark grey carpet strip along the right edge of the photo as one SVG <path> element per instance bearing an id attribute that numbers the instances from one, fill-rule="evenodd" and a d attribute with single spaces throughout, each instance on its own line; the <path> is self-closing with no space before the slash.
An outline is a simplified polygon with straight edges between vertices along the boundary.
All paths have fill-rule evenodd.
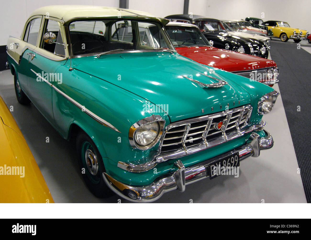
<path id="1" fill-rule="evenodd" d="M 280 69 L 283 105 L 307 202 L 311 203 L 311 54 L 297 47 L 271 41 L 270 54 Z"/>

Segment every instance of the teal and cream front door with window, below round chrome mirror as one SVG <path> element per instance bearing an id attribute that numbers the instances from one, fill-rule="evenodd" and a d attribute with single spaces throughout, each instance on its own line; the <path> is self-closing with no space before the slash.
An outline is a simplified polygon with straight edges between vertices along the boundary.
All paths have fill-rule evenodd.
<path id="1" fill-rule="evenodd" d="M 50 17 L 51 18 L 51 17 Z M 42 31 L 39 33 L 38 45 L 30 53 L 28 76 L 28 88 L 31 91 L 31 101 L 53 124 L 52 90 L 53 85 L 62 84 L 62 73 L 57 69 L 65 64 L 66 56 L 63 44 L 63 36 L 60 31 L 61 24 L 52 19 L 43 18 Z M 46 43 L 43 40 L 45 33 L 56 35 L 57 43 Z"/>

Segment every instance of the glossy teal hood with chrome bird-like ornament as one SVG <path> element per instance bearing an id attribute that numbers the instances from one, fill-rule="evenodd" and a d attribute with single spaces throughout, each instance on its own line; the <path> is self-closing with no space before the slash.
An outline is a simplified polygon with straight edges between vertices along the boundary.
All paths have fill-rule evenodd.
<path id="1" fill-rule="evenodd" d="M 171 122 L 224 111 L 228 104 L 232 108 L 251 102 L 248 92 L 235 82 L 243 77 L 232 74 L 231 81 L 215 73 L 213 68 L 177 53 L 124 52 L 101 55 L 99 58 L 88 56 L 72 59 L 72 66 L 160 106 Z M 228 84 L 202 88 L 181 76 L 203 83 L 216 82 L 200 73 L 227 81 Z"/>

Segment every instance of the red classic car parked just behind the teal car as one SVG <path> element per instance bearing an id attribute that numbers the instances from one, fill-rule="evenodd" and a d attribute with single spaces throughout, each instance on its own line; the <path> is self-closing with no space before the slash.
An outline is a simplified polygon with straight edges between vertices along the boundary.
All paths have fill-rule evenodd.
<path id="1" fill-rule="evenodd" d="M 184 57 L 269 86 L 279 82 L 279 70 L 272 60 L 212 47 L 212 42 L 193 24 L 169 22 L 165 29 L 177 52 Z"/>

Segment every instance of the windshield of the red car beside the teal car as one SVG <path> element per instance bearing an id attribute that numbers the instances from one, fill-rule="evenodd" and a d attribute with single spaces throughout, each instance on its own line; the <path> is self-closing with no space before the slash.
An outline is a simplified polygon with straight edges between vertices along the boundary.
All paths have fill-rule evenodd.
<path id="1" fill-rule="evenodd" d="M 196 27 L 166 25 L 165 29 L 175 47 L 193 45 L 210 46 L 206 37 Z"/>

